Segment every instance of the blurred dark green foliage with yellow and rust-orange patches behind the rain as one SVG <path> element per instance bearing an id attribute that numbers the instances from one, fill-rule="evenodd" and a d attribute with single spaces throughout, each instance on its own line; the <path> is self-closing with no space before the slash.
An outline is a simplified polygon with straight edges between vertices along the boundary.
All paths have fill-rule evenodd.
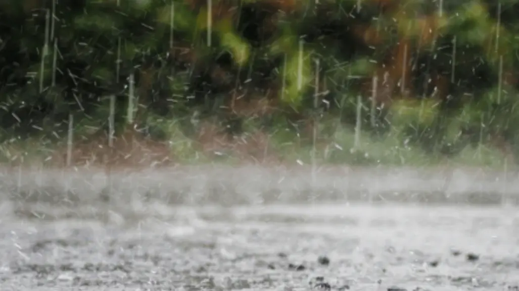
<path id="1" fill-rule="evenodd" d="M 326 152 L 337 161 L 360 120 L 379 163 L 513 158 L 517 15 L 519 0 L 2 1 L 0 138 L 63 139 L 69 114 L 76 135 L 106 133 L 115 96 L 116 135 L 185 138 L 209 120 L 230 136 L 267 128 L 290 154 L 317 118 L 343 141 Z"/>

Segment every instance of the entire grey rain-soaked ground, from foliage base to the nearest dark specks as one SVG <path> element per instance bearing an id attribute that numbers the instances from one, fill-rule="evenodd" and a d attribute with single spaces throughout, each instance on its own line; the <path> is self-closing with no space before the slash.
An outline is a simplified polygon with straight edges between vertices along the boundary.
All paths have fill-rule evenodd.
<path id="1" fill-rule="evenodd" d="M 468 191 L 502 186 L 490 178 L 428 181 L 442 192 L 393 174 L 364 178 L 362 192 L 321 177 L 321 190 L 295 191 L 305 179 L 247 174 L 176 180 L 182 191 L 163 172 L 128 174 L 109 191 L 93 176 L 4 176 L 1 289 L 519 290 L 519 211 L 499 192 Z M 384 183 L 414 192 L 373 190 Z"/>

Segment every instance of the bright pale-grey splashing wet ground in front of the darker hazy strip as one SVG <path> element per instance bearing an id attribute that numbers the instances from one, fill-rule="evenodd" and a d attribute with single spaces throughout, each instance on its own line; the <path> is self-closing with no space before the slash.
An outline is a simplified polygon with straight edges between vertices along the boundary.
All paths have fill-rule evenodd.
<path id="1" fill-rule="evenodd" d="M 117 218 L 108 221 L 4 217 L 2 289 L 519 288 L 519 212 L 513 208 L 148 210 L 160 215 L 112 213 Z"/>

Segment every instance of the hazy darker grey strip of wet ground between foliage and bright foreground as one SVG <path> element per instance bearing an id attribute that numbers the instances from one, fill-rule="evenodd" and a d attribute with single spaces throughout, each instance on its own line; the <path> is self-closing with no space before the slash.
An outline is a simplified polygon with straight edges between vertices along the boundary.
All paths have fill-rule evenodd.
<path id="1" fill-rule="evenodd" d="M 3 169 L 0 200 L 90 205 L 99 199 L 254 205 L 309 201 L 519 204 L 519 172 L 471 168 L 182 166 L 145 170 Z"/>

